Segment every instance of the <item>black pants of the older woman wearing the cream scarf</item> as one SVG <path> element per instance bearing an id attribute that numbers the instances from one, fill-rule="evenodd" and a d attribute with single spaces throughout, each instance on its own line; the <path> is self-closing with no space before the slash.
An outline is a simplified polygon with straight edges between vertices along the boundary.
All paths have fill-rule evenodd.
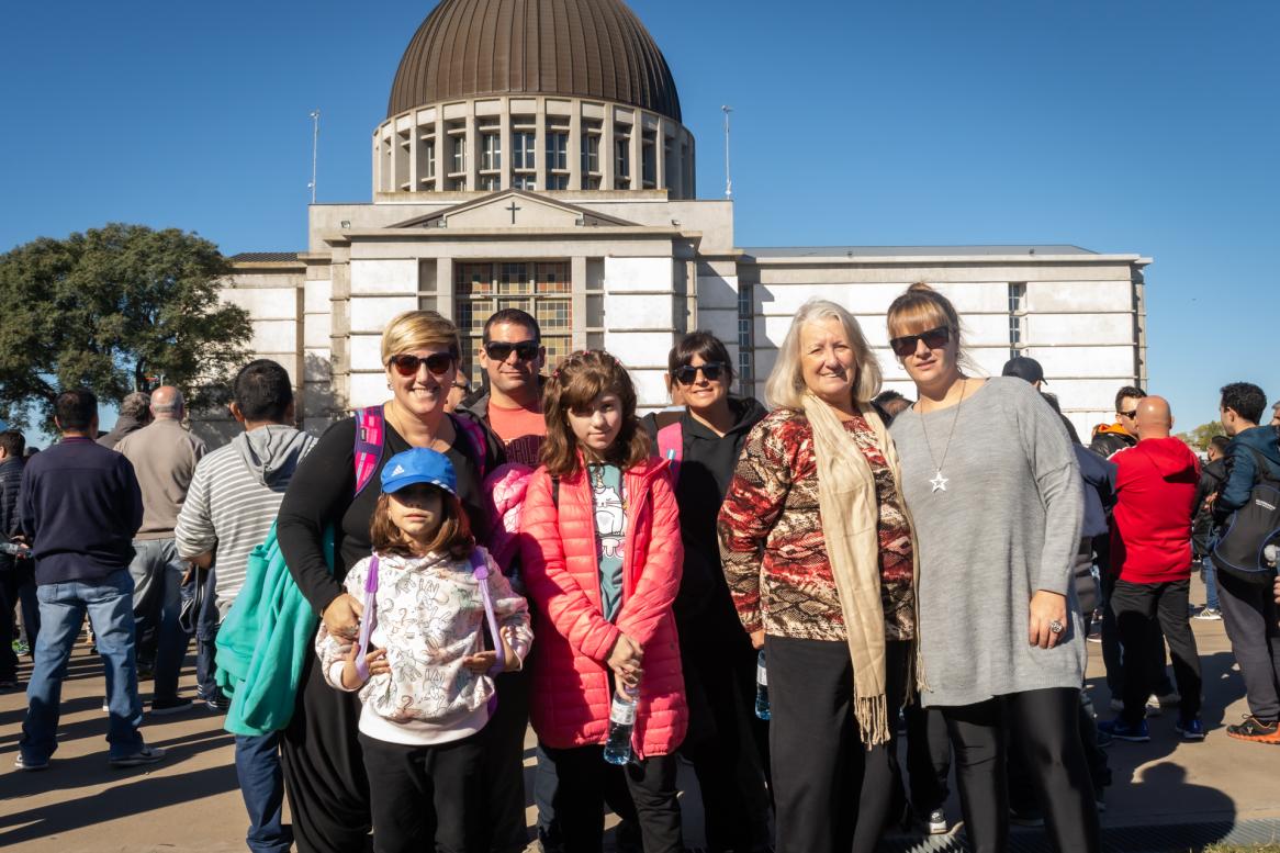
<path id="1" fill-rule="evenodd" d="M 765 635 L 769 754 L 778 853 L 874 850 L 896 790 L 893 744 L 868 749 L 854 719 L 844 642 Z M 891 725 L 902 704 L 906 643 L 886 644 Z"/>

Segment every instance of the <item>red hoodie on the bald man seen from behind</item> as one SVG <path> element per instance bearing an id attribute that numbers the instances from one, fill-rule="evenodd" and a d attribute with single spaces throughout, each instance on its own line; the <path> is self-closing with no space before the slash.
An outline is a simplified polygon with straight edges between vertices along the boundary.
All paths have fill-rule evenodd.
<path id="1" fill-rule="evenodd" d="M 1148 438 L 1117 451 L 1111 461 L 1117 469 L 1114 571 L 1135 584 L 1190 578 L 1196 453 L 1178 438 Z"/>

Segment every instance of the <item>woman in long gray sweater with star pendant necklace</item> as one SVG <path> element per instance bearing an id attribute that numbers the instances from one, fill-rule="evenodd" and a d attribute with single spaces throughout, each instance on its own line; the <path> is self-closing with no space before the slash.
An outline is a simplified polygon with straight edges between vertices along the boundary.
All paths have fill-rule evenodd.
<path id="1" fill-rule="evenodd" d="M 893 301 L 888 333 L 919 392 L 891 433 L 919 546 L 920 695 L 946 717 L 969 840 L 1007 848 L 1014 739 L 1057 849 L 1093 853 L 1071 588 L 1083 500 L 1066 430 L 1025 382 L 964 375 L 960 319 L 927 284 Z"/>

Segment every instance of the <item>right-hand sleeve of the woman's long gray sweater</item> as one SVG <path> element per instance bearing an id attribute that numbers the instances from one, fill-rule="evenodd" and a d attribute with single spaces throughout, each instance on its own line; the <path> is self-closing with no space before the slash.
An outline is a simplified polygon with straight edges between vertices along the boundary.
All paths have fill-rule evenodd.
<path id="1" fill-rule="evenodd" d="M 1038 392 L 1014 396 L 1018 434 L 1044 506 L 1044 547 L 1034 588 L 1066 594 L 1084 523 L 1080 466 L 1061 419 Z"/>

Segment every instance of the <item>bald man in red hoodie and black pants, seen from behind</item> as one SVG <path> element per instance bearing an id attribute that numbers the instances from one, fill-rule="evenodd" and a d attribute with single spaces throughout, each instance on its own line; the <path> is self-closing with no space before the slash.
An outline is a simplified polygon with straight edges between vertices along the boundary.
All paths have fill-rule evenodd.
<path id="1" fill-rule="evenodd" d="M 1185 740 L 1203 740 L 1199 653 L 1187 616 L 1199 460 L 1170 437 L 1174 419 L 1162 397 L 1140 400 L 1134 420 L 1138 443 L 1111 456 L 1117 467 L 1111 606 L 1124 647 L 1124 711 L 1098 727 L 1119 740 L 1151 740 L 1144 706 L 1155 685 L 1146 662 L 1158 642 L 1158 620 L 1181 694 L 1175 729 Z"/>

